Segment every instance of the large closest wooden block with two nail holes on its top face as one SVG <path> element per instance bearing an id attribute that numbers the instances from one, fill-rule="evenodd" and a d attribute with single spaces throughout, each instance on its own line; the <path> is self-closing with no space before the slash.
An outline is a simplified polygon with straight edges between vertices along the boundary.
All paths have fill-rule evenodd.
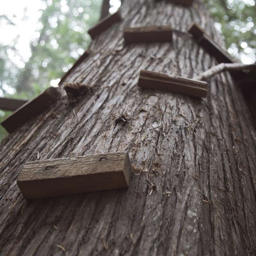
<path id="1" fill-rule="evenodd" d="M 28 162 L 17 184 L 25 198 L 43 198 L 127 188 L 132 170 L 127 152 Z"/>

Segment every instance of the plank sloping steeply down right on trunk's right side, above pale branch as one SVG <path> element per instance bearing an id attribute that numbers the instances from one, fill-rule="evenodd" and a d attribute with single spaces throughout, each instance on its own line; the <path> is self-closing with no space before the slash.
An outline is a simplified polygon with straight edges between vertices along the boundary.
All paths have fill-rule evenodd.
<path id="1" fill-rule="evenodd" d="M 198 24 L 192 23 L 188 32 L 192 34 L 196 42 L 201 45 L 204 50 L 209 52 L 219 63 L 234 63 L 235 61 L 227 51 L 220 45 L 216 44 L 213 39 Z"/>

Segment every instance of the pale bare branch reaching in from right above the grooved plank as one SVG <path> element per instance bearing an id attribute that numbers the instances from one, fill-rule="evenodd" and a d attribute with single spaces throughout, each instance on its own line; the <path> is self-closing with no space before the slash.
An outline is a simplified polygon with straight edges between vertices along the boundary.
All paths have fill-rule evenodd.
<path id="1" fill-rule="evenodd" d="M 210 78 L 216 74 L 219 74 L 223 71 L 234 71 L 234 70 L 244 70 L 245 72 L 249 72 L 250 70 L 256 71 L 256 65 L 245 65 L 242 63 L 220 63 L 219 65 L 216 65 L 205 72 L 203 72 L 201 75 L 194 77 L 195 80 L 205 80 L 207 78 Z"/>

